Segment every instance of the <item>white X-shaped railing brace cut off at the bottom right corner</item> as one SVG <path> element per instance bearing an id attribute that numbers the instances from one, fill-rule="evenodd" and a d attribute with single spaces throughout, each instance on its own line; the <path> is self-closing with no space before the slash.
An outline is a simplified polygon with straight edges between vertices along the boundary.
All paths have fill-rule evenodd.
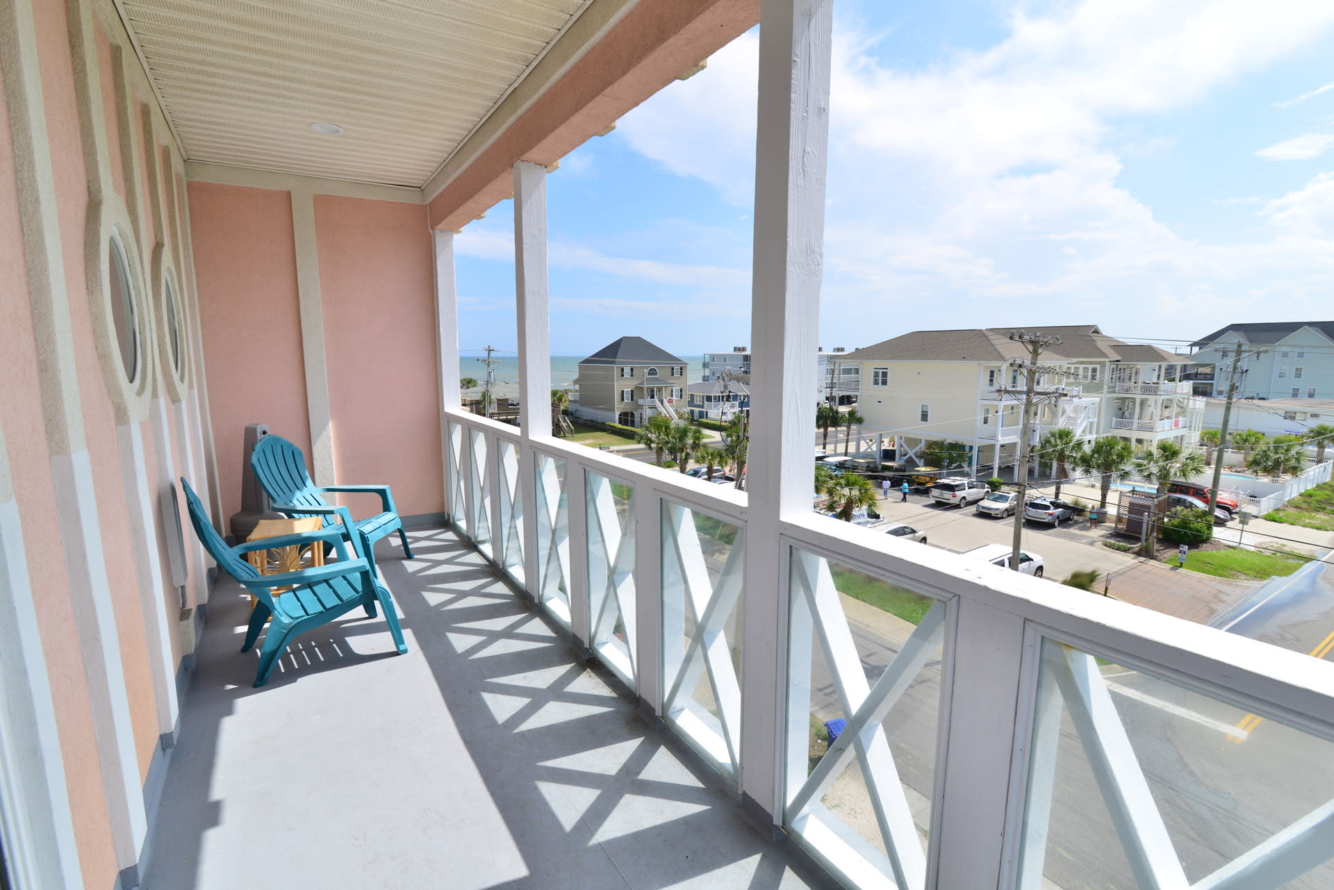
<path id="1" fill-rule="evenodd" d="M 1041 664 L 1019 849 L 1019 890 L 1035 890 L 1045 883 L 1051 807 L 1058 790 L 1055 765 L 1062 703 L 1138 886 L 1277 890 L 1334 858 L 1334 801 L 1329 801 L 1191 883 L 1097 659 L 1045 640 Z"/>

